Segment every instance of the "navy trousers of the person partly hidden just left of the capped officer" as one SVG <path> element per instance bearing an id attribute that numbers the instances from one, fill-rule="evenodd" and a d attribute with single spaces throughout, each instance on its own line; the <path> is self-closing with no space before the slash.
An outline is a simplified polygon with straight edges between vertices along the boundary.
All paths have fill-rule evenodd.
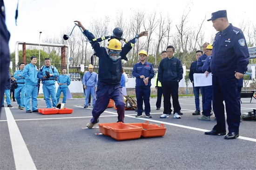
<path id="1" fill-rule="evenodd" d="M 202 114 L 210 116 L 212 108 L 212 85 L 202 87 Z"/>

